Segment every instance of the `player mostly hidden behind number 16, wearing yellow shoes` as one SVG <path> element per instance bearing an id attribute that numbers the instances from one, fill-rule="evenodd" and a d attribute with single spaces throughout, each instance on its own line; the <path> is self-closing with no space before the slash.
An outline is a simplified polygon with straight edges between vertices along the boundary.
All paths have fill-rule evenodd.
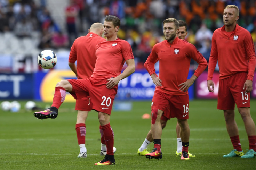
<path id="1" fill-rule="evenodd" d="M 187 36 L 187 23 L 183 20 L 179 20 L 179 31 L 178 31 L 178 38 L 185 40 L 185 37 Z M 165 112 L 162 114 L 160 123 L 161 123 L 161 127 L 162 129 L 165 128 L 167 121 L 170 119 L 170 117 L 166 117 L 165 116 Z M 168 113 L 169 114 L 169 113 Z M 177 151 L 176 151 L 176 156 L 181 156 L 181 151 L 182 151 L 182 143 L 181 143 L 181 128 L 179 127 L 179 124 L 177 122 L 176 125 L 176 134 L 177 134 Z M 143 155 L 145 156 L 147 153 L 149 153 L 149 151 L 147 151 L 147 147 L 153 142 L 153 137 L 152 137 L 152 133 L 151 130 L 149 131 L 149 133 L 147 134 L 146 139 L 144 140 L 144 142 L 142 143 L 141 147 L 138 149 L 138 155 Z M 195 155 L 189 153 L 189 156 L 191 157 L 195 157 Z"/>

